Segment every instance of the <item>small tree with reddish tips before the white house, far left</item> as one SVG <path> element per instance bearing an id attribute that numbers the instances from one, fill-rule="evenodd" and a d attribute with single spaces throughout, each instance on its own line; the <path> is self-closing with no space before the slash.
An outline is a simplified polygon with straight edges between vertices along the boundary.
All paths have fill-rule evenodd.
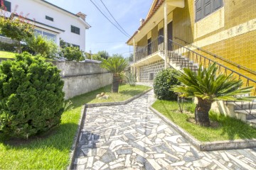
<path id="1" fill-rule="evenodd" d="M 9 17 L 6 15 L 0 17 L 0 33 L 17 41 L 19 53 L 21 53 L 21 41 L 33 35 L 33 28 L 33 24 L 29 23 L 26 17 L 17 16 L 15 12 Z"/>

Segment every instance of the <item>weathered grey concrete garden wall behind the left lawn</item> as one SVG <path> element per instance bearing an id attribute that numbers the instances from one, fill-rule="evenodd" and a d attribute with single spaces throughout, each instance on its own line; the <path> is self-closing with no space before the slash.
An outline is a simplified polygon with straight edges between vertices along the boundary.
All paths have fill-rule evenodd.
<path id="1" fill-rule="evenodd" d="M 53 62 L 61 70 L 65 99 L 100 89 L 112 83 L 112 74 L 93 62 Z"/>

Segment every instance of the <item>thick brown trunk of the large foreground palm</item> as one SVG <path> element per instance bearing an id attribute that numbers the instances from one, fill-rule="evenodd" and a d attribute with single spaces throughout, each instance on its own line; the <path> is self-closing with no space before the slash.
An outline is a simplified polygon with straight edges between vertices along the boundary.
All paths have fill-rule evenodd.
<path id="1" fill-rule="evenodd" d="M 195 111 L 196 124 L 206 127 L 210 126 L 209 111 L 211 104 L 211 101 L 198 98 L 198 103 L 196 105 Z"/>

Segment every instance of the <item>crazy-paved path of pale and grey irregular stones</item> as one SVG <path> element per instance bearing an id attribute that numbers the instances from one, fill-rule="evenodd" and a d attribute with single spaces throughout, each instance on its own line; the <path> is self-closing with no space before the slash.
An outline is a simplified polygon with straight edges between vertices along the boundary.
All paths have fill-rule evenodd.
<path id="1" fill-rule="evenodd" d="M 199 152 L 149 110 L 153 96 L 88 108 L 75 169 L 256 169 L 256 148 Z"/>

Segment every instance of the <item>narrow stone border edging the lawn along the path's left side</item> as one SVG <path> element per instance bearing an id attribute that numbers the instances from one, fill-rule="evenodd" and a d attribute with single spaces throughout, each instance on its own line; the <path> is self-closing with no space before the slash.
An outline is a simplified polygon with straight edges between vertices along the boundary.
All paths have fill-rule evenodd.
<path id="1" fill-rule="evenodd" d="M 90 103 L 90 104 L 85 104 L 84 106 L 82 106 L 82 110 L 81 110 L 81 115 L 80 115 L 80 120 L 79 120 L 79 124 L 78 124 L 78 130 L 75 133 L 75 138 L 73 140 L 73 145 L 72 148 L 70 149 L 70 164 L 68 165 L 67 169 L 74 169 L 74 164 L 73 162 L 75 161 L 75 153 L 76 153 L 76 148 L 78 146 L 78 140 L 80 139 L 80 132 L 82 130 L 82 127 L 85 123 L 85 117 L 86 117 L 86 109 L 87 108 L 94 108 L 94 107 L 99 107 L 99 106 L 116 106 L 116 105 L 124 105 L 127 104 L 131 101 L 133 101 L 136 98 L 139 98 L 140 96 L 146 94 L 147 92 L 151 91 L 152 89 L 148 89 L 144 92 L 142 92 L 142 94 L 138 94 L 136 96 L 133 96 L 132 98 L 127 99 L 126 101 L 119 101 L 119 102 L 108 102 L 108 103 Z"/>

